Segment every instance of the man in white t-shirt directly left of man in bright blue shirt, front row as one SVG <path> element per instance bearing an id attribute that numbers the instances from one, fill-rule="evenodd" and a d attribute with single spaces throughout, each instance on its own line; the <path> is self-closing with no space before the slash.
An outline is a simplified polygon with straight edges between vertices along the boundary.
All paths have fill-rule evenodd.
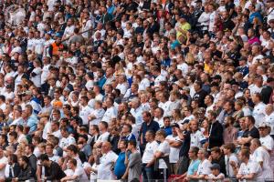
<path id="1" fill-rule="evenodd" d="M 101 145 L 102 157 L 98 166 L 98 178 L 105 180 L 114 180 L 116 177 L 111 171 L 111 167 L 116 162 L 118 156 L 111 150 L 110 142 L 103 142 Z"/>

